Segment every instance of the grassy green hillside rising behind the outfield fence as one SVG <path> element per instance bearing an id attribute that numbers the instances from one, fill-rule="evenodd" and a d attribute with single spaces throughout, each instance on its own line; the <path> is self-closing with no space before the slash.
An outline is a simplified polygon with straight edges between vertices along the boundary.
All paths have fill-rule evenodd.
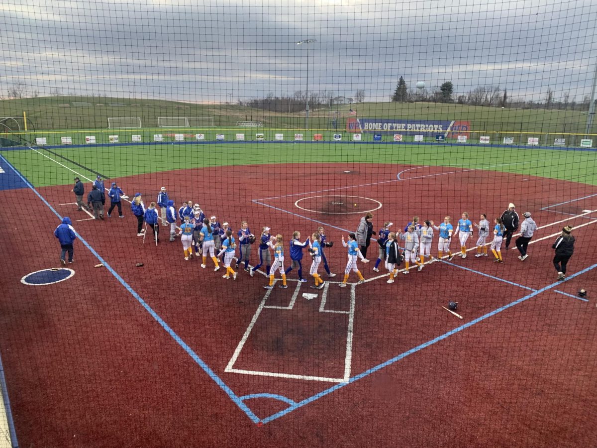
<path id="1" fill-rule="evenodd" d="M 349 108 L 362 118 L 460 119 L 471 122 L 476 131 L 533 133 L 584 133 L 586 113 L 544 109 L 490 108 L 442 103 L 359 103 L 333 105 L 311 111 L 309 127 L 328 129 L 331 116 L 338 116 L 338 128 L 346 127 Z M 213 116 L 217 127 L 234 127 L 237 121 L 260 121 L 266 128 L 300 129 L 304 112 L 276 113 L 241 105 L 204 105 L 167 100 L 112 97 L 38 97 L 0 100 L 0 118 L 22 116 L 32 120 L 36 130 L 107 128 L 110 116 L 139 116 L 144 128 L 157 127 L 158 116 Z M 337 112 L 337 114 L 336 114 Z M 597 123 L 592 133 L 597 133 Z"/>

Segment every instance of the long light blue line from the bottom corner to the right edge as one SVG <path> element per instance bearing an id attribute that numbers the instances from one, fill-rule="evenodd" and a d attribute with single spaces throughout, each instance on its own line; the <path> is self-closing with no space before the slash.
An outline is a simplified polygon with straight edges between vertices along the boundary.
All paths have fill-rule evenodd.
<path id="1" fill-rule="evenodd" d="M 572 278 L 577 277 L 578 275 L 584 274 L 585 272 L 589 272 L 591 269 L 595 269 L 595 268 L 597 268 L 597 263 L 595 263 L 594 265 L 589 266 L 588 268 L 584 268 L 582 271 L 578 271 L 576 274 L 571 275 L 566 280 L 571 280 Z M 549 284 L 549 285 L 547 285 L 547 286 L 545 286 L 545 287 L 543 287 L 543 288 L 541 288 L 539 290 L 535 290 L 532 293 L 527 294 L 524 297 L 521 297 L 518 300 L 515 300 L 514 302 L 510 302 L 507 305 L 500 306 L 500 308 L 494 309 L 494 311 L 488 312 L 487 314 L 482 315 L 481 317 L 478 317 L 475 320 L 467 322 L 466 324 L 463 324 L 460 327 L 457 327 L 457 328 L 455 328 L 453 330 L 450 330 L 449 332 L 444 333 L 441 336 L 435 337 L 434 339 L 429 340 L 427 342 L 424 342 L 421 345 L 417 345 L 416 347 L 411 348 L 408 351 L 405 351 L 404 353 L 396 356 L 395 358 L 387 360 L 384 363 L 378 364 L 375 367 L 371 367 L 371 369 L 365 370 L 365 372 L 363 372 L 363 373 L 361 373 L 359 375 L 353 376 L 352 378 L 350 378 L 349 382 L 347 382 L 347 383 L 340 383 L 340 384 L 337 384 L 335 386 L 332 386 L 331 388 L 325 389 L 324 391 L 321 391 L 318 394 L 312 395 L 312 397 L 305 398 L 303 401 L 299 401 L 296 405 L 289 406 L 287 409 L 281 410 L 280 412 L 276 412 L 275 414 L 270 415 L 267 418 L 264 418 L 262 420 L 262 422 L 265 424 L 265 423 L 269 423 L 269 422 L 271 422 L 271 421 L 273 421 L 275 419 L 278 419 L 278 418 L 286 415 L 287 413 L 292 412 L 293 410 L 296 410 L 296 409 L 298 409 L 301 406 L 304 406 L 305 404 L 309 404 L 312 401 L 318 400 L 319 398 L 324 397 L 325 395 L 330 394 L 331 392 L 337 391 L 338 389 L 340 389 L 340 388 L 342 388 L 344 386 L 347 386 L 349 384 L 352 384 L 353 382 L 356 382 L 359 379 L 365 378 L 365 376 L 371 375 L 371 373 L 377 372 L 378 370 L 381 370 L 384 367 L 387 367 L 390 364 L 393 364 L 396 361 L 399 361 L 402 358 L 407 357 L 408 355 L 411 355 L 411 354 L 416 353 L 416 352 L 418 352 L 418 351 L 420 351 L 420 350 L 422 350 L 424 348 L 427 348 L 428 346 L 433 345 L 434 343 L 439 342 L 440 340 L 444 340 L 444 339 L 446 339 L 449 336 L 452 336 L 452 335 L 454 335 L 454 334 L 456 334 L 458 332 L 461 332 L 462 330 L 467 329 L 470 326 L 473 326 L 473 325 L 481 322 L 482 320 L 490 318 L 493 315 L 496 315 L 496 314 L 504 311 L 505 309 L 511 308 L 512 306 L 518 305 L 519 303 L 522 303 L 525 300 L 531 299 L 532 297 L 535 297 L 538 294 L 543 293 L 544 291 L 550 290 L 550 289 L 552 289 L 553 287 L 555 287 L 556 285 L 559 285 L 559 284 L 561 284 L 561 282 L 559 282 L 559 281 L 557 283 Z"/>

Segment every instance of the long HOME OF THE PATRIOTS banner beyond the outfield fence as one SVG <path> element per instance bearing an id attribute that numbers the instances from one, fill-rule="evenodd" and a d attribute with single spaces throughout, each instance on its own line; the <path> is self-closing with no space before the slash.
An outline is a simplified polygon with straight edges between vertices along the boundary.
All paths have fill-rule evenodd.
<path id="1" fill-rule="evenodd" d="M 444 137 L 455 137 L 456 133 L 470 131 L 470 121 L 460 120 L 404 120 L 384 118 L 347 118 L 346 130 L 359 133 L 395 134 L 402 135 L 444 134 Z"/>

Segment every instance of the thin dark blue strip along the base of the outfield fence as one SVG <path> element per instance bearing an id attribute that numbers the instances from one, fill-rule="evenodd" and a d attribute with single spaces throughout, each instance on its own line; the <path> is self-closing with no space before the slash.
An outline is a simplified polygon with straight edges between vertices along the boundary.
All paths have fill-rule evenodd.
<path id="1" fill-rule="evenodd" d="M 37 132 L 41 135 L 42 133 Z M 103 148 L 105 146 L 146 146 L 146 145 L 242 145 L 242 144 L 281 144 L 281 143 L 294 143 L 294 144 L 307 144 L 307 145 L 344 145 L 350 143 L 351 145 L 395 145 L 395 146 L 459 146 L 459 147 L 470 147 L 470 148 L 504 148 L 504 149 L 551 149 L 553 151 L 583 151 L 583 152 L 597 152 L 597 148 L 564 148 L 562 146 L 525 146 L 525 145 L 500 145 L 497 143 L 490 145 L 480 145 L 479 143 L 437 143 L 437 142 L 353 142 L 352 140 L 344 140 L 340 142 L 334 141 L 312 141 L 312 140 L 201 140 L 201 141 L 190 141 L 190 142 L 127 142 L 127 143 L 86 143 L 81 145 L 45 145 L 36 146 L 38 149 L 61 149 L 61 148 Z M 21 151 L 23 149 L 29 149 L 28 146 L 10 146 L 8 148 L 2 148 L 2 151 Z"/>

